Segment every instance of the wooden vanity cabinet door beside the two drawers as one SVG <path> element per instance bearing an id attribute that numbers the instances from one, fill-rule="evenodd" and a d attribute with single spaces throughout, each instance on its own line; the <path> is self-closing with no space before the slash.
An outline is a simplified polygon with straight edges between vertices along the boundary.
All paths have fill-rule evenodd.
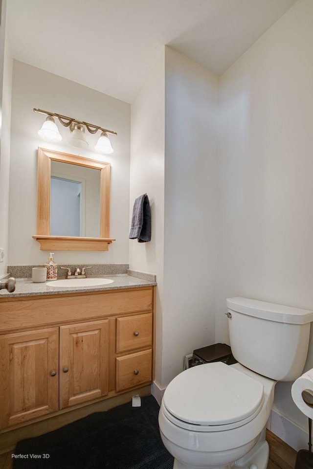
<path id="1" fill-rule="evenodd" d="M 60 409 L 108 394 L 109 319 L 60 327 Z"/>

